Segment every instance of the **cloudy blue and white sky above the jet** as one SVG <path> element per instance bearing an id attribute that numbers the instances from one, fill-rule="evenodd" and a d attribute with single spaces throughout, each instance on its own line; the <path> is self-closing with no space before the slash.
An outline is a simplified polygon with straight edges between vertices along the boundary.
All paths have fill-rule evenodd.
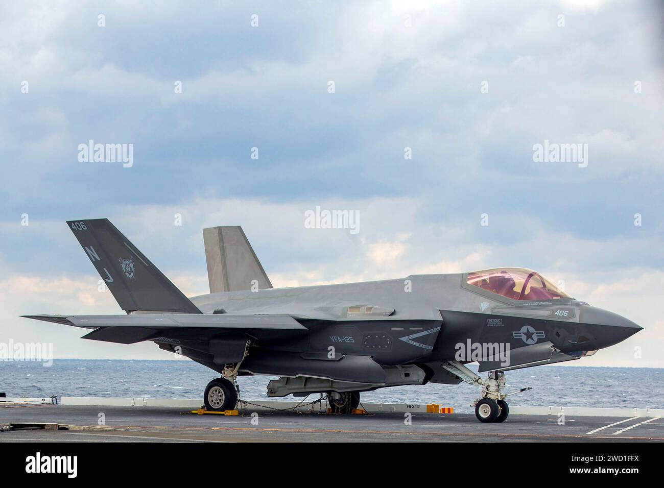
<path id="1" fill-rule="evenodd" d="M 0 342 L 169 359 L 17 317 L 122 313 L 64 223 L 108 217 L 187 295 L 214 225 L 242 225 L 275 286 L 533 268 L 645 327 L 584 364 L 662 367 L 662 21 L 655 1 L 3 2 Z M 133 166 L 79 162 L 90 139 Z M 533 161 L 544 140 L 587 166 Z M 315 206 L 359 232 L 305 228 Z"/>

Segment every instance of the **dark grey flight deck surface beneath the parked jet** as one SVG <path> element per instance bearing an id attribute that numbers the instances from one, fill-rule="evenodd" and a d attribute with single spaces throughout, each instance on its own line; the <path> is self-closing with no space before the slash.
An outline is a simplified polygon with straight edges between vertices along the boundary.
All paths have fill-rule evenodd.
<path id="1" fill-rule="evenodd" d="M 0 432 L 0 442 L 633 442 L 664 441 L 663 418 L 513 415 L 481 424 L 473 414 L 368 415 L 260 412 L 195 415 L 183 408 L 7 404 L 0 425 L 54 423 L 68 430 Z M 100 414 L 103 414 L 100 415 Z M 99 425 L 103 418 L 105 424 Z M 256 421 L 258 423 L 256 424 Z"/>

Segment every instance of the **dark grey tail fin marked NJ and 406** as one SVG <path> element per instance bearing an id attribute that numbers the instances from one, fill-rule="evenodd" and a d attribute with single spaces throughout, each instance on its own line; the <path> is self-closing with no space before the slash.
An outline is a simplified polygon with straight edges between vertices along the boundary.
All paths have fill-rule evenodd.
<path id="1" fill-rule="evenodd" d="M 108 218 L 68 220 L 67 224 L 127 313 L 201 313 Z"/>

